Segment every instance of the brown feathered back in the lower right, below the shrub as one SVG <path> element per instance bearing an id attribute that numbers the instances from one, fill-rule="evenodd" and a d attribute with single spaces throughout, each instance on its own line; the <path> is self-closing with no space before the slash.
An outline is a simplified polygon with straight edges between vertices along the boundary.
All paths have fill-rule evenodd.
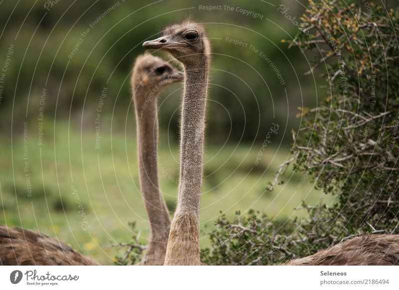
<path id="1" fill-rule="evenodd" d="M 291 260 L 288 266 L 399 266 L 399 235 L 364 235 L 314 255 Z"/>

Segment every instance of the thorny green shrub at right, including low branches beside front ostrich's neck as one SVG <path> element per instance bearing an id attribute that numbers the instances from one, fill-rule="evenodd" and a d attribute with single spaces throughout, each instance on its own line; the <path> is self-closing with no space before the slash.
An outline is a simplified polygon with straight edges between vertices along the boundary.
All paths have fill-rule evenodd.
<path id="1" fill-rule="evenodd" d="M 292 164 L 338 202 L 304 204 L 305 220 L 283 224 L 253 213 L 233 223 L 222 216 L 203 251 L 207 264 L 279 264 L 363 232 L 399 233 L 398 10 L 344 0 L 308 7 L 289 42 L 317 56 L 310 72 L 320 70 L 328 90 L 319 107 L 300 108 L 292 157 L 269 189 Z"/>

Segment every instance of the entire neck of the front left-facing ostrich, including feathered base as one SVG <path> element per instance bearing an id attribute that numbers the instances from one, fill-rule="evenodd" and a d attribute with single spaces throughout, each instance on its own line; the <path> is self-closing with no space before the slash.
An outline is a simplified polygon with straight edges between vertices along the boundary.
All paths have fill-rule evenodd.
<path id="1" fill-rule="evenodd" d="M 171 224 L 165 265 L 201 265 L 199 225 L 203 134 L 209 60 L 185 64 L 179 199 Z"/>

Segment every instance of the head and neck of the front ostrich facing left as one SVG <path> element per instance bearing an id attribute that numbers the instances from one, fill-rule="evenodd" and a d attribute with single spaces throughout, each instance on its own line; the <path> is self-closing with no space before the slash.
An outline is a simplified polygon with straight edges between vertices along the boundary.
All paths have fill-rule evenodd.
<path id="1" fill-rule="evenodd" d="M 169 52 L 185 68 L 179 195 L 169 233 L 165 265 L 201 265 L 199 211 L 209 42 L 203 26 L 185 21 L 167 27 L 162 37 L 146 41 L 143 46 Z"/>

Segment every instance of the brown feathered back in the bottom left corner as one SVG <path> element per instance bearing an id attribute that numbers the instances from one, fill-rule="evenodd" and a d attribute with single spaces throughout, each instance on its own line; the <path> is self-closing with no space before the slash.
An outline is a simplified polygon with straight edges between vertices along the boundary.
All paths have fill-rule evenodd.
<path id="1" fill-rule="evenodd" d="M 0 225 L 0 265 L 99 265 L 68 245 L 39 232 Z"/>

